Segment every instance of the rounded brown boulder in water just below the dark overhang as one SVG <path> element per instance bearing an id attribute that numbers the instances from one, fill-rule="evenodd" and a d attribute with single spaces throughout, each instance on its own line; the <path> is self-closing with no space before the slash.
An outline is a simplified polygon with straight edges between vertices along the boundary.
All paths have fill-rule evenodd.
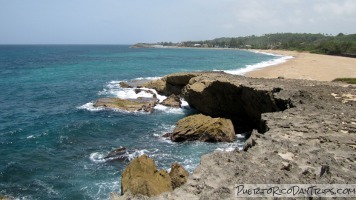
<path id="1" fill-rule="evenodd" d="M 175 142 L 199 140 L 203 142 L 233 142 L 234 126 L 229 119 L 212 118 L 202 114 L 179 120 L 171 135 Z"/>

